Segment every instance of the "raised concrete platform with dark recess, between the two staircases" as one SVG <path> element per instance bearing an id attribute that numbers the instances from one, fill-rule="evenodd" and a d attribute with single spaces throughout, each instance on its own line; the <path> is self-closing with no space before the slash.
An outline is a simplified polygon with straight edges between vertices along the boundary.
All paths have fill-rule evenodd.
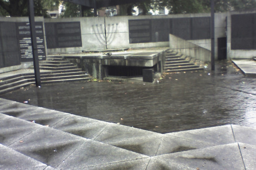
<path id="1" fill-rule="evenodd" d="M 51 56 L 62 56 L 64 59 L 69 59 L 73 63 L 78 64 L 79 68 L 82 68 L 83 71 L 89 73 L 91 76 L 104 79 L 104 77 L 113 76 L 111 73 L 116 72 L 129 72 L 132 76 L 142 76 L 143 68 L 154 68 L 155 72 L 163 72 L 165 53 L 168 50 L 168 47 L 158 47 L 116 51 L 111 52 L 111 55 L 98 52 L 69 53 Z"/>

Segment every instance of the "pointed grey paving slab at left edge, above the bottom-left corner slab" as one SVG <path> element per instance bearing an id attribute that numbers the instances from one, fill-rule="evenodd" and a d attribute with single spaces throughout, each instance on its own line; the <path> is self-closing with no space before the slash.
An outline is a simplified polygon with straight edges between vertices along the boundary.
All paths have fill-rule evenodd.
<path id="1" fill-rule="evenodd" d="M 40 127 L 42 126 L 0 113 L 0 144 L 9 146 Z"/>

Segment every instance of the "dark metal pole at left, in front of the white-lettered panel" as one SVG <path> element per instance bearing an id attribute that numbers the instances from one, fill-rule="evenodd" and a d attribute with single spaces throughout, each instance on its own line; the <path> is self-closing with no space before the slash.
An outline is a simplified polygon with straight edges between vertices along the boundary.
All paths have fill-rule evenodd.
<path id="1" fill-rule="evenodd" d="M 37 51 L 37 45 L 36 45 L 35 13 L 34 13 L 33 0 L 29 0 L 29 23 L 30 23 L 30 35 L 31 35 L 32 54 L 33 54 L 34 71 L 35 71 L 35 85 L 39 87 L 41 86 L 41 80 L 40 80 L 38 51 Z"/>

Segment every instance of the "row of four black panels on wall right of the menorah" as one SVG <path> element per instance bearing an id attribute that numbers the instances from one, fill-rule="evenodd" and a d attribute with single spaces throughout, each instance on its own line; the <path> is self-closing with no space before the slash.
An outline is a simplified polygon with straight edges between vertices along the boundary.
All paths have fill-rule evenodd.
<path id="1" fill-rule="evenodd" d="M 169 41 L 169 34 L 185 39 L 211 38 L 210 17 L 129 20 L 130 43 Z"/>

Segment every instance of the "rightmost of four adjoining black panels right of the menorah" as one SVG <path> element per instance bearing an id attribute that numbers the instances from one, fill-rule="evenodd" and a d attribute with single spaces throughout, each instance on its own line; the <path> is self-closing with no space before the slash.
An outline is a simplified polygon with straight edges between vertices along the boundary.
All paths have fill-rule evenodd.
<path id="1" fill-rule="evenodd" d="M 193 17 L 191 39 L 211 38 L 211 17 Z"/>

